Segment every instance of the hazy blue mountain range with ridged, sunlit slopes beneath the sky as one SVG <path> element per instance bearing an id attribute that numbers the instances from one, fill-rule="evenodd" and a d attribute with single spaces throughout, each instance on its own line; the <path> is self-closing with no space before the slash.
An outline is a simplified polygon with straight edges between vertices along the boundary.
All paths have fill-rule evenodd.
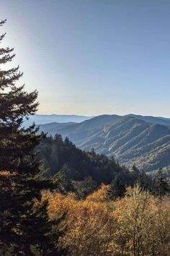
<path id="1" fill-rule="evenodd" d="M 48 135 L 60 133 L 82 150 L 94 150 L 143 171 L 170 167 L 170 119 L 154 116 L 102 115 L 75 123 L 40 124 Z"/>

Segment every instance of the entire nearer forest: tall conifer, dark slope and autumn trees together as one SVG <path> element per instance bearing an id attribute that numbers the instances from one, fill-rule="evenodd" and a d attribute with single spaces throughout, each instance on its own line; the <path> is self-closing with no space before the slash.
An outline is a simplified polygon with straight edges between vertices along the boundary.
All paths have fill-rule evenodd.
<path id="1" fill-rule="evenodd" d="M 37 91 L 17 86 L 19 67 L 4 68 L 13 51 L 0 48 L 0 255 L 169 256 L 164 172 L 128 170 L 35 124 L 24 128 Z"/>

